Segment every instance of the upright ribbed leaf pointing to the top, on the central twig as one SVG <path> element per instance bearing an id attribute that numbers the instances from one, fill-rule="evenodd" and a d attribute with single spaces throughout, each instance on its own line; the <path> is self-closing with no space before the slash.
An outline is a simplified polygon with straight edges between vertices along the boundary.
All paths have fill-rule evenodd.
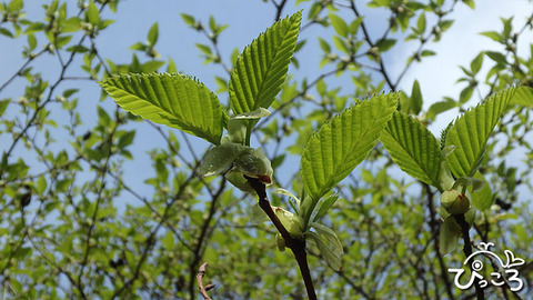
<path id="1" fill-rule="evenodd" d="M 275 22 L 248 46 L 230 78 L 230 103 L 235 114 L 269 108 L 285 81 L 296 47 L 302 13 Z"/>

